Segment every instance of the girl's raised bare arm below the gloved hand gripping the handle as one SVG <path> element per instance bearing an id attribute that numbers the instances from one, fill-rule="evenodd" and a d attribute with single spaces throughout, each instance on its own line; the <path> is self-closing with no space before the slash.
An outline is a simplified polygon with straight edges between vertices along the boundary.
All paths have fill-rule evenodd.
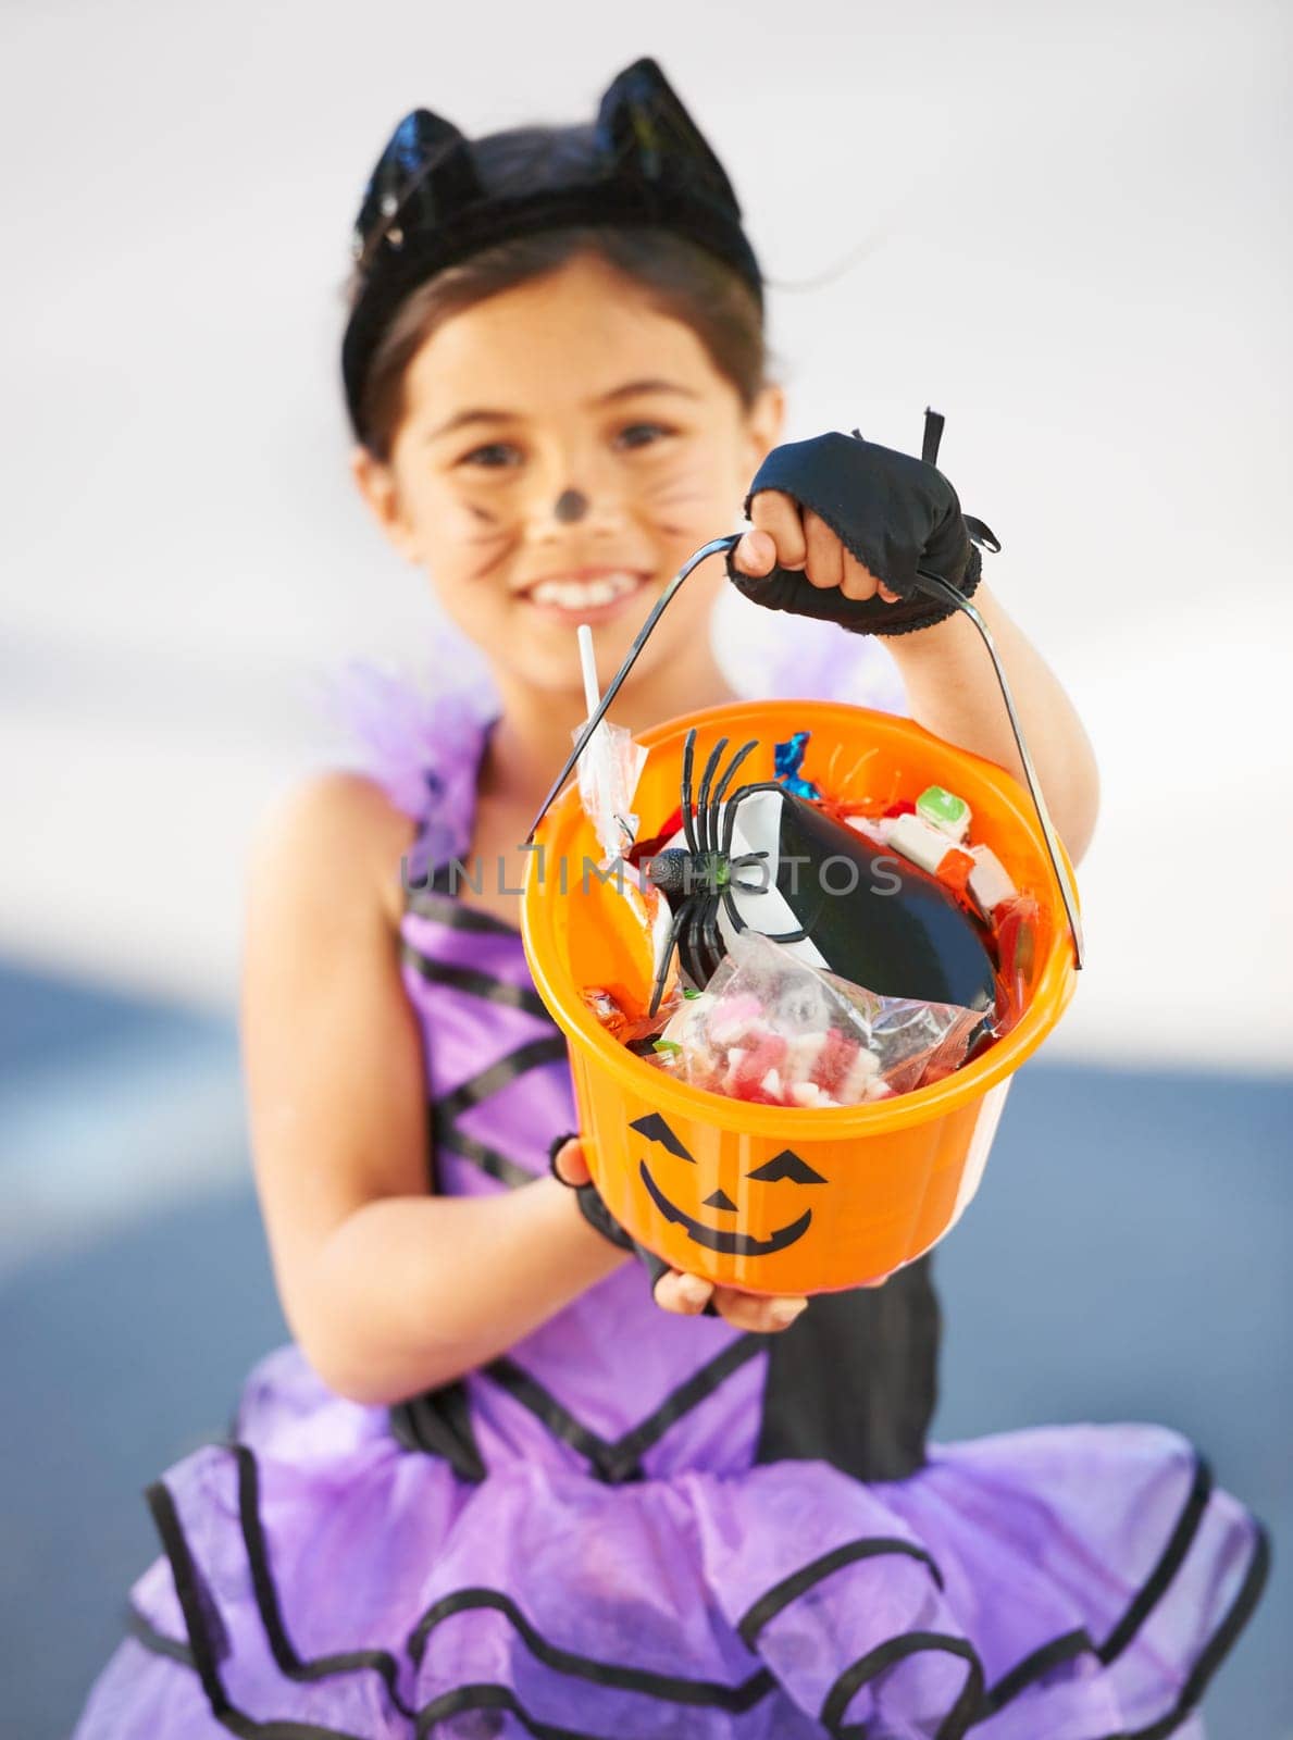
<path id="1" fill-rule="evenodd" d="M 1100 809 L 1100 773 L 1091 740 L 1055 672 L 987 585 L 978 585 L 973 602 L 1006 666 L 1046 807 L 1077 863 L 1091 844 Z M 894 656 L 917 724 L 999 762 L 1023 781 L 1023 762 L 988 649 L 966 616 L 957 611 L 943 623 L 891 635 L 884 644 Z"/>

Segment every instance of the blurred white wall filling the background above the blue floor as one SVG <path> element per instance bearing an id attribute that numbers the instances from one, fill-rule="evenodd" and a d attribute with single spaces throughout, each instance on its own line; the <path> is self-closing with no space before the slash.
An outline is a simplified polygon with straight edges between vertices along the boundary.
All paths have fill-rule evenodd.
<path id="1" fill-rule="evenodd" d="M 367 171 L 416 104 L 576 118 L 651 52 L 773 280 L 851 261 L 774 294 L 792 433 L 914 449 L 943 411 L 1089 724 L 1053 1054 L 1286 1067 L 1291 33 L 1255 0 L 5 7 L 0 950 L 231 995 L 317 675 L 433 633 L 345 473 Z"/>

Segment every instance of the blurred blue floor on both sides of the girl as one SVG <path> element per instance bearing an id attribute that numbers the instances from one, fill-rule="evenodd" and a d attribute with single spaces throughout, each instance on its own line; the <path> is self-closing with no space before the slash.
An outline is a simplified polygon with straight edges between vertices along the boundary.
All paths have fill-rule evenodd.
<path id="1" fill-rule="evenodd" d="M 56 1075 L 75 1096 L 87 1058 L 132 1054 L 124 1037 L 150 1070 L 183 1053 L 184 1084 L 200 1056 L 207 1100 L 237 1108 L 233 1039 L 216 1027 L 0 969 L 0 1185 L 30 1171 L 12 1140 L 31 1140 L 30 1117 L 5 1126 L 17 1089 Z M 139 1128 L 157 1115 L 150 1089 Z M 1209 1740 L 1293 1740 L 1291 1121 L 1288 1081 L 1028 1065 L 938 1256 L 938 1437 L 1159 1420 L 1270 1526 L 1272 1583 L 1208 1696 Z M 211 1141 L 204 1119 L 195 1152 Z M 117 1218 L 47 1202 L 40 1235 L 0 1270 L 5 1737 L 68 1733 L 155 1550 L 141 1486 L 223 1432 L 247 1366 L 284 1336 L 245 1159 L 233 1145 L 224 1161 L 224 1180 L 204 1162 L 188 1199 L 167 1178 L 164 1211 L 141 1178 Z M 90 1148 L 66 1157 L 59 1188 L 75 1195 L 77 1168 L 90 1180 L 96 1164 Z M 101 1181 L 85 1195 L 101 1201 Z"/>

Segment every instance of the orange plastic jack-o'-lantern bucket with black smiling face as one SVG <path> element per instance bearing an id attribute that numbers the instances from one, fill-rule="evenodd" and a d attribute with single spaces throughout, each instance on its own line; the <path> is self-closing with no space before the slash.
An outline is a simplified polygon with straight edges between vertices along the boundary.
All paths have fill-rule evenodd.
<path id="1" fill-rule="evenodd" d="M 677 806 L 687 731 L 698 757 L 757 738 L 745 778 L 771 780 L 773 748 L 809 731 L 804 774 L 853 766 L 841 802 L 941 785 L 968 800 L 1037 922 L 1020 962 L 1022 1013 L 941 1081 L 856 1107 L 783 1108 L 689 1086 L 618 1042 L 583 992 L 644 1007 L 653 962 L 630 901 L 592 867 L 602 853 L 571 785 L 546 811 L 522 896 L 522 934 L 543 1002 L 569 1041 L 580 1133 L 614 1218 L 673 1268 L 747 1293 L 832 1293 L 893 1274 L 935 1246 L 978 1190 L 1011 1075 L 1063 1014 L 1081 966 L 1075 908 L 1060 898 L 1042 821 L 995 762 L 908 719 L 823 701 L 717 706 L 644 733 L 644 816 Z M 1063 847 L 1058 847 L 1063 853 Z M 1063 868 L 1072 886 L 1072 867 Z M 1074 896 L 1075 900 L 1075 896 Z M 724 1208 L 707 1202 L 722 1192 Z M 733 1213 L 734 1206 L 734 1213 Z"/>

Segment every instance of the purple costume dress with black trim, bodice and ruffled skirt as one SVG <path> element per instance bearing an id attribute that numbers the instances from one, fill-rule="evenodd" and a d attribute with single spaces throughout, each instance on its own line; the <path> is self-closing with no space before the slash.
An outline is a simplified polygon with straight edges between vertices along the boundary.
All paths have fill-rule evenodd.
<path id="1" fill-rule="evenodd" d="M 435 1188 L 524 1188 L 576 1126 L 566 1046 L 520 934 L 437 873 L 482 722 L 374 719 L 421 821 Z M 1197 1740 L 1260 1526 L 1159 1427 L 926 1442 L 936 1343 L 922 1260 L 776 1336 L 668 1315 L 628 1263 L 395 1409 L 285 1347 L 150 1489 L 164 1556 L 77 1740 Z"/>

